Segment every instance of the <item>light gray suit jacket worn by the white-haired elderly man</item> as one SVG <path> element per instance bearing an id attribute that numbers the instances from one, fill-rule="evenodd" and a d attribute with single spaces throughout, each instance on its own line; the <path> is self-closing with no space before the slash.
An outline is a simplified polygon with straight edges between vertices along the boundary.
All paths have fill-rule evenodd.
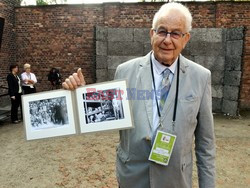
<path id="1" fill-rule="evenodd" d="M 176 76 L 162 111 L 163 130 L 172 131 Z M 117 180 L 121 188 L 192 187 L 192 142 L 195 138 L 200 188 L 215 187 L 215 138 L 211 105 L 211 73 L 180 56 L 180 81 L 175 124 L 176 143 L 168 166 L 148 160 L 153 126 L 150 54 L 118 66 L 115 79 L 127 79 L 134 129 L 120 131 Z"/>

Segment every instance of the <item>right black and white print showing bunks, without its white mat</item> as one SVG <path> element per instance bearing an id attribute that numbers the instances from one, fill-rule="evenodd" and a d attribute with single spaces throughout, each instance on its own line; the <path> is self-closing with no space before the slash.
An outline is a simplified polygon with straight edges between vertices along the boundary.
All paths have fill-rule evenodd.
<path id="1" fill-rule="evenodd" d="M 86 124 L 124 119 L 120 88 L 83 94 Z"/>

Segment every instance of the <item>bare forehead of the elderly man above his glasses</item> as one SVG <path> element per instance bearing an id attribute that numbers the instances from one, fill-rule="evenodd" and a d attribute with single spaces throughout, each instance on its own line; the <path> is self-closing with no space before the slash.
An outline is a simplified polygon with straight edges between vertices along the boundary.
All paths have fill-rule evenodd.
<path id="1" fill-rule="evenodd" d="M 156 28 L 185 31 L 186 17 L 176 9 L 171 9 L 159 15 Z"/>

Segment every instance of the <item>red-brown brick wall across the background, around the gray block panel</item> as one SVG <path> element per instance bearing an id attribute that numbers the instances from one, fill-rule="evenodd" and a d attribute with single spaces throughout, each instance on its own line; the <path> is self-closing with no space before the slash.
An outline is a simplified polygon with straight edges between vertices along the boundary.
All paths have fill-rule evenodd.
<path id="1" fill-rule="evenodd" d="M 194 28 L 245 27 L 241 108 L 250 108 L 250 3 L 189 2 Z M 17 62 L 31 63 L 38 90 L 48 90 L 46 74 L 53 66 L 63 76 L 82 67 L 95 82 L 94 26 L 150 27 L 162 3 L 106 3 L 16 8 Z M 121 36 L 122 37 L 122 36 Z"/>

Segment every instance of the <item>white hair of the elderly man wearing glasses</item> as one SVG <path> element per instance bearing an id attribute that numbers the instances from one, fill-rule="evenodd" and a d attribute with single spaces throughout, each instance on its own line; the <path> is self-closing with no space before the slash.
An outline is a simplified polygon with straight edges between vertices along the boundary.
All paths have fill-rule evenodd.
<path id="1" fill-rule="evenodd" d="M 170 10 L 178 10 L 181 12 L 181 14 L 183 14 L 183 16 L 186 19 L 186 23 L 185 23 L 185 30 L 186 32 L 191 31 L 192 29 L 192 15 L 190 13 L 190 11 L 188 10 L 188 8 L 184 5 L 182 5 L 181 3 L 166 3 L 164 5 L 161 6 L 161 8 L 155 13 L 154 15 L 154 19 L 153 19 L 153 23 L 152 23 L 152 28 L 156 29 L 156 24 L 157 21 L 159 20 L 159 18 L 166 14 L 167 12 L 169 12 Z"/>

